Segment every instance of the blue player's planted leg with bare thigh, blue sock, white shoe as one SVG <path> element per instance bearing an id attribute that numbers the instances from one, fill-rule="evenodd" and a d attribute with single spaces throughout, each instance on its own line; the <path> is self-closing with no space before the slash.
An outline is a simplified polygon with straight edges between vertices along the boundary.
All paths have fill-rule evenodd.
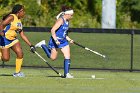
<path id="1" fill-rule="evenodd" d="M 69 74 L 69 69 L 70 69 L 70 63 L 71 63 L 71 60 L 70 60 L 70 47 L 69 45 L 63 47 L 61 49 L 62 53 L 64 54 L 64 76 L 66 78 L 73 78 L 73 76 L 71 76 Z"/>

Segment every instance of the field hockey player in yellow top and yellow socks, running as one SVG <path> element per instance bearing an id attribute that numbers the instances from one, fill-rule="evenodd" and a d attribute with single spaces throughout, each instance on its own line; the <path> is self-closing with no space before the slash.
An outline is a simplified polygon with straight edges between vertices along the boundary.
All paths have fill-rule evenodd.
<path id="1" fill-rule="evenodd" d="M 21 65 L 23 62 L 23 51 L 21 44 L 17 39 L 17 33 L 20 34 L 21 38 L 30 46 L 32 52 L 35 51 L 35 47 L 30 43 L 26 35 L 22 30 L 21 18 L 25 15 L 24 7 L 17 4 L 13 7 L 12 12 L 3 17 L 0 23 L 0 48 L 1 48 L 1 59 L 9 61 L 10 49 L 16 54 L 16 71 L 13 74 L 14 77 L 24 77 L 25 75 L 21 72 Z"/>

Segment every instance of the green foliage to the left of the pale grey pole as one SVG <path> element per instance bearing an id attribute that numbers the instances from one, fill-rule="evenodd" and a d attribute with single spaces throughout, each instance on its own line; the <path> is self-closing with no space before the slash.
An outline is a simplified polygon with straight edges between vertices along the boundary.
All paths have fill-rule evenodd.
<path id="1" fill-rule="evenodd" d="M 23 20 L 24 26 L 48 26 L 51 27 L 55 22 L 56 15 L 60 12 L 62 5 L 70 6 L 74 9 L 75 14 L 71 22 L 71 27 L 97 27 L 100 28 L 101 7 L 95 6 L 94 0 L 91 6 L 90 0 L 41 0 L 39 6 L 35 0 L 4 0 L 1 9 L 1 15 L 10 12 L 12 6 L 16 3 L 23 4 L 26 9 L 26 16 Z M 101 5 L 100 5 L 101 6 Z M 8 9 L 10 7 L 10 9 Z M 97 10 L 97 11 L 94 11 Z M 100 10 L 100 11 L 99 11 Z M 2 17 L 2 16 L 1 16 Z M 80 20 L 77 20 L 77 18 Z M 74 21 L 75 20 L 75 21 Z"/>

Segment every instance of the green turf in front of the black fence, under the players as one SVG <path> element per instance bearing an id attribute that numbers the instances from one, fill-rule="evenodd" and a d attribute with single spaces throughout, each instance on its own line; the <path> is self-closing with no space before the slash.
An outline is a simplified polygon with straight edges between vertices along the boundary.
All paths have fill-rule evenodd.
<path id="1" fill-rule="evenodd" d="M 50 69 L 23 68 L 26 77 L 15 78 L 14 68 L 0 68 L 0 93 L 139 93 L 140 74 L 71 70 L 74 79 L 63 79 Z M 61 73 L 62 70 L 59 69 Z M 92 79 L 91 75 L 96 78 Z"/>

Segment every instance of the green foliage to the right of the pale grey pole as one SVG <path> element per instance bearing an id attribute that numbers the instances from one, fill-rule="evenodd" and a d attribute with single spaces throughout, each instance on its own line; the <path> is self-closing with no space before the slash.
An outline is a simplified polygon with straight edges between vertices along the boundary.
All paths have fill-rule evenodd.
<path id="1" fill-rule="evenodd" d="M 122 0 L 118 6 L 117 17 L 118 27 L 120 28 L 139 28 L 140 27 L 140 1 Z M 121 21 L 121 22 L 120 22 Z"/>

